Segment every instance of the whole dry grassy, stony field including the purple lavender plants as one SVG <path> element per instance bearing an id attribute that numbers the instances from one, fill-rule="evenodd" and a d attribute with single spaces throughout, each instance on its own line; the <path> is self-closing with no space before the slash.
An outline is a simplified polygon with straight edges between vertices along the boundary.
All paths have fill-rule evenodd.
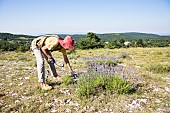
<path id="1" fill-rule="evenodd" d="M 62 61 L 62 54 L 52 54 Z M 42 91 L 30 52 L 1 52 L 0 112 L 168 113 L 169 56 L 169 47 L 76 50 L 68 57 L 79 79 L 56 67 L 61 83 L 47 71 L 53 89 Z"/>

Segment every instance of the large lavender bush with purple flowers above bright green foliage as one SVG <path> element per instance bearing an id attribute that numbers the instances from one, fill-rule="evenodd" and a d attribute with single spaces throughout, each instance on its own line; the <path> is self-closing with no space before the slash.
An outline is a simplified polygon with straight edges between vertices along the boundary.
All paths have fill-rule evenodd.
<path id="1" fill-rule="evenodd" d="M 77 83 L 79 97 L 89 98 L 101 91 L 129 94 L 139 81 L 135 68 L 118 64 L 120 57 L 95 56 L 85 60 L 87 72 L 80 75 Z"/>

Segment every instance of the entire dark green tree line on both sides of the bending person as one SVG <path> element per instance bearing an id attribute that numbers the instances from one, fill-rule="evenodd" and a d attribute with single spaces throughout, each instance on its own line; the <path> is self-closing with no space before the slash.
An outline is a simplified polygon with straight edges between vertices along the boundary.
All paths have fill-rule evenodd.
<path id="1" fill-rule="evenodd" d="M 138 34 L 143 35 L 143 34 Z M 20 36 L 20 38 L 18 38 Z M 31 41 L 35 36 L 19 35 L 15 36 L 12 34 L 0 35 L 0 51 L 28 51 Z M 22 37 L 21 37 L 22 36 Z M 96 33 L 89 32 L 85 36 L 79 35 L 82 37 L 75 40 L 75 45 L 77 49 L 95 49 L 95 48 L 128 48 L 128 47 L 168 47 L 170 46 L 170 37 L 159 38 L 157 35 L 154 35 L 156 38 L 151 38 L 152 35 L 149 35 L 149 38 L 123 38 L 124 35 L 119 38 L 108 39 L 109 41 L 104 41 Z M 146 35 L 147 37 L 148 35 Z M 73 36 L 74 37 L 74 36 Z"/>

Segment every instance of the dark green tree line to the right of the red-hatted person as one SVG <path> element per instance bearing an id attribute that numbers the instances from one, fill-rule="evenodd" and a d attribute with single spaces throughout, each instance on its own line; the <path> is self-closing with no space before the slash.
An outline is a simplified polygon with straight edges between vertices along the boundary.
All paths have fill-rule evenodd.
<path id="1" fill-rule="evenodd" d="M 94 49 L 94 48 L 128 48 L 128 47 L 168 47 L 170 46 L 170 38 L 144 38 L 125 40 L 112 39 L 109 42 L 101 40 L 95 33 L 87 33 L 86 38 L 80 38 L 76 47 L 79 49 Z"/>

